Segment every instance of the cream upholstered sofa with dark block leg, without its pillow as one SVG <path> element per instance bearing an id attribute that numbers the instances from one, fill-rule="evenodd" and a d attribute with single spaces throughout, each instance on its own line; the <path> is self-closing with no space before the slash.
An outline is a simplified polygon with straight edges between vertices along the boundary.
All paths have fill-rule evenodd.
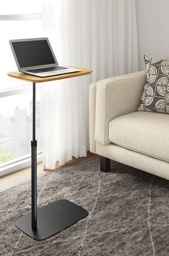
<path id="1" fill-rule="evenodd" d="M 169 179 L 169 115 L 137 111 L 145 71 L 90 85 L 90 151 L 100 170 L 110 159 Z"/>

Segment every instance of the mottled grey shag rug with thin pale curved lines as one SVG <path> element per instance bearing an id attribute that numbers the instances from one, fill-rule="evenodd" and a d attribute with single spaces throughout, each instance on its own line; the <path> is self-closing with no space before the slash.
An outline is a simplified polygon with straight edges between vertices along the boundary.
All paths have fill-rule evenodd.
<path id="1" fill-rule="evenodd" d="M 0 194 L 0 255 L 136 256 L 169 255 L 169 181 L 111 163 L 100 172 L 92 157 L 38 179 L 38 204 L 58 198 L 84 207 L 89 215 L 44 241 L 14 226 L 30 211 L 31 183 Z"/>

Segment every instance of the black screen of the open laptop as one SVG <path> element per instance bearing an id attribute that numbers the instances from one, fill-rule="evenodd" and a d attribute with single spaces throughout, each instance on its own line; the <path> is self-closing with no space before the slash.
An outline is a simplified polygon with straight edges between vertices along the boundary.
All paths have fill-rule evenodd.
<path id="1" fill-rule="evenodd" d="M 47 40 L 11 42 L 20 68 L 54 64 Z"/>

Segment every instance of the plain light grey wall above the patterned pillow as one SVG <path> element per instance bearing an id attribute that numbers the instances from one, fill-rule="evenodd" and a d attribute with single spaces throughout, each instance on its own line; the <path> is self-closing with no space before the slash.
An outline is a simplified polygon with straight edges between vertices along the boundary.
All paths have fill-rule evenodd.
<path id="1" fill-rule="evenodd" d="M 139 69 L 143 55 L 169 57 L 169 0 L 136 0 Z"/>

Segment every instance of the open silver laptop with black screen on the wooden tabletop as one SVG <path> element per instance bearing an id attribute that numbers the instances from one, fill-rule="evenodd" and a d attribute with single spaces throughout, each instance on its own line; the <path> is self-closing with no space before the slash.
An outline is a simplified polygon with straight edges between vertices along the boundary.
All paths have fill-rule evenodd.
<path id="1" fill-rule="evenodd" d="M 22 73 L 47 77 L 80 71 L 58 64 L 47 37 L 10 40 L 9 43 L 18 70 Z"/>

